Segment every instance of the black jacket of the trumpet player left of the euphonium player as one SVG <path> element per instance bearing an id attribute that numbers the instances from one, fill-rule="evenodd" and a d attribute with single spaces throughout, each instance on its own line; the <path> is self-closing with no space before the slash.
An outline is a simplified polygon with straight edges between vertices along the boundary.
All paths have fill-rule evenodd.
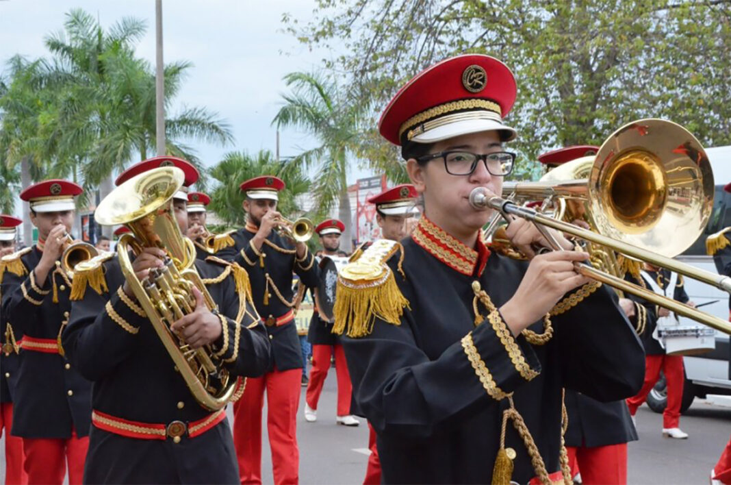
<path id="1" fill-rule="evenodd" d="M 20 257 L 26 274 L 5 271 L 2 279 L 2 315 L 16 339 L 45 339 L 58 349 L 61 326 L 71 311 L 71 285 L 61 270 L 45 281 L 35 278 L 42 252 L 32 247 Z M 55 290 L 54 290 L 55 287 Z M 58 303 L 53 303 L 56 293 Z M 91 383 L 69 363 L 68 354 L 20 350 L 20 369 L 13 389 L 12 434 L 26 438 L 70 438 L 72 431 L 88 435 L 91 423 Z M 24 345 L 26 345 L 24 343 Z"/>

